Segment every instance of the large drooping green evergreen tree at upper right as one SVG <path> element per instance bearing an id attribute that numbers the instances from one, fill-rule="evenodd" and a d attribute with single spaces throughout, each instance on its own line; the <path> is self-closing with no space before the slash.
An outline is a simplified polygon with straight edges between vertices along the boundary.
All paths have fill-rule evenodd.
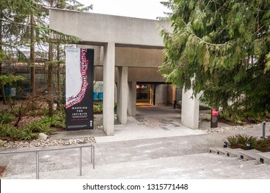
<path id="1" fill-rule="evenodd" d="M 270 0 L 170 0 L 163 77 L 245 116 L 270 111 Z"/>

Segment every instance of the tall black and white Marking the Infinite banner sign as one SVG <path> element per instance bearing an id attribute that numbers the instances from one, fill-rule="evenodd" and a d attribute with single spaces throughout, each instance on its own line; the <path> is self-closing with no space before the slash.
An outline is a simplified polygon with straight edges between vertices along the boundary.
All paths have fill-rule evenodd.
<path id="1" fill-rule="evenodd" d="M 94 50 L 66 48 L 66 130 L 94 128 Z"/>

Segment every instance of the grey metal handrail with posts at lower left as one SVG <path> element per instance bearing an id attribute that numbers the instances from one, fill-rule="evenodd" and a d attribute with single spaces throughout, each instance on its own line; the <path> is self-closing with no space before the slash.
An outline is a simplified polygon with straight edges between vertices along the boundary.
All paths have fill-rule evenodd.
<path id="1" fill-rule="evenodd" d="M 80 145 L 79 147 L 64 147 L 64 148 L 53 148 L 53 149 L 43 149 L 43 150 L 25 150 L 25 151 L 12 151 L 12 152 L 0 152 L 1 154 L 23 154 L 23 153 L 30 153 L 35 152 L 36 153 L 36 174 L 37 179 L 39 179 L 39 152 L 47 152 L 47 151 L 55 151 L 55 150 L 70 150 L 70 149 L 76 149 L 80 148 L 80 176 L 82 176 L 82 170 L 83 170 L 83 151 L 82 148 L 91 148 L 91 163 L 93 164 L 94 169 L 94 145 Z"/>

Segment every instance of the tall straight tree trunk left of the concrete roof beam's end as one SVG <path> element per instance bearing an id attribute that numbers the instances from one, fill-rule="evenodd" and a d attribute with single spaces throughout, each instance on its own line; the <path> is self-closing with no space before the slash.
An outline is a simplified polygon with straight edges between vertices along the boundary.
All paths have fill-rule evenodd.
<path id="1" fill-rule="evenodd" d="M 31 93 L 36 95 L 36 68 L 34 66 L 34 17 L 30 15 L 30 70 L 31 70 Z"/>

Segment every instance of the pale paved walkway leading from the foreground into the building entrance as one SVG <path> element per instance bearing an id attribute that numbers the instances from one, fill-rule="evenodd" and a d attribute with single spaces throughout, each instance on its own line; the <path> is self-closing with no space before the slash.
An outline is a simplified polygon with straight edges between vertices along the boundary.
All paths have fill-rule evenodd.
<path id="1" fill-rule="evenodd" d="M 171 107 L 139 107 L 137 116 L 129 117 L 126 125 L 115 125 L 114 136 L 102 130 L 62 132 L 54 139 L 94 136 L 95 163 L 90 164 L 90 149 L 83 149 L 83 176 L 79 176 L 79 150 L 40 153 L 41 179 L 249 179 L 239 174 L 244 163 L 226 157 L 209 155 L 208 148 L 221 147 L 227 136 L 246 133 L 261 136 L 260 126 L 207 134 L 180 125 L 180 112 Z M 209 124 L 209 123 L 205 123 Z M 229 126 L 229 125 L 225 125 Z M 267 135 L 270 134 L 267 128 Z M 78 145 L 79 146 L 79 145 Z M 1 156 L 7 165 L 1 179 L 35 179 L 35 155 Z M 229 161 L 230 160 L 230 161 Z M 231 162 L 232 161 L 232 162 Z M 214 162 L 214 163 L 211 163 Z M 218 163 L 236 165 L 234 172 L 217 172 Z M 246 164 L 246 163 L 245 163 Z M 252 165 L 251 163 L 247 163 Z M 208 165 L 208 167 L 207 167 Z M 211 165 L 215 170 L 211 170 Z M 193 169 L 192 169 L 192 168 Z M 220 165 L 222 168 L 222 165 Z M 267 165 L 269 168 L 270 165 Z M 262 167 L 258 167 L 260 170 Z M 190 169 L 190 170 L 188 170 Z M 256 169 L 253 169 L 256 170 Z M 267 171 L 264 168 L 265 171 Z M 215 172 L 216 171 L 216 172 Z M 270 176 L 264 176 L 268 178 Z M 254 176 L 260 179 L 262 176 Z"/>

